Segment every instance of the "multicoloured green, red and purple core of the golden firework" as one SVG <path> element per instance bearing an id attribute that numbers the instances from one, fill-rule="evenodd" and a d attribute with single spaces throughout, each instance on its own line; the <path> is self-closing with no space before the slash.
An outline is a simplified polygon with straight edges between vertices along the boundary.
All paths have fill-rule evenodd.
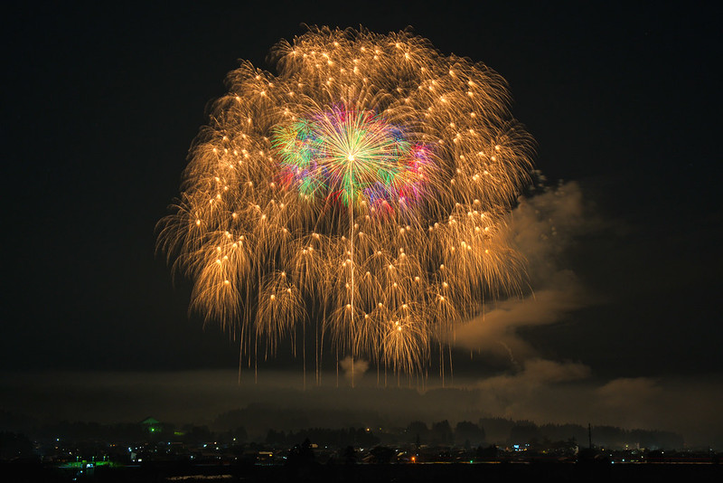
<path id="1" fill-rule="evenodd" d="M 428 147 L 371 110 L 333 107 L 275 129 L 281 180 L 310 202 L 370 204 L 377 213 L 414 204 L 422 192 Z"/>

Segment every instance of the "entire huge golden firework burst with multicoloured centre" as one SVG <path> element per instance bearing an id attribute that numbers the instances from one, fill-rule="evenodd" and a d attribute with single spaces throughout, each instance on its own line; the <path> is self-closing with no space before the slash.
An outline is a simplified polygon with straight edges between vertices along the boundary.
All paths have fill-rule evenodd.
<path id="1" fill-rule="evenodd" d="M 315 324 L 317 383 L 324 344 L 422 374 L 482 300 L 519 289 L 505 219 L 531 138 L 505 82 L 406 31 L 312 28 L 272 57 L 277 76 L 230 72 L 159 249 L 249 365 Z"/>

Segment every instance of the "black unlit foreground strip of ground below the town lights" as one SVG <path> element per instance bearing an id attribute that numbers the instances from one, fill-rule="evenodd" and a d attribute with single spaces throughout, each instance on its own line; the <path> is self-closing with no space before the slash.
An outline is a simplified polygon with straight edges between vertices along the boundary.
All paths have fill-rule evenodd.
<path id="1" fill-rule="evenodd" d="M 6 463 L 3 481 L 89 482 L 531 482 L 615 481 L 640 482 L 723 481 L 723 465 L 712 464 L 609 464 L 609 463 L 478 463 L 410 465 L 305 465 L 283 466 L 192 466 L 148 465 L 120 469 L 96 469 L 94 474 L 73 474 L 67 469 L 33 463 Z M 74 479 L 75 478 L 75 479 Z M 668 479 L 671 478 L 671 479 Z"/>

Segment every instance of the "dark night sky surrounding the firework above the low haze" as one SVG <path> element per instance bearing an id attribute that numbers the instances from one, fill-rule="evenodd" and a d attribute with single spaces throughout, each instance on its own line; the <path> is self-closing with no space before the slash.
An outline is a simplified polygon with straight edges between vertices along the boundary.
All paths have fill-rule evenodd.
<path id="1" fill-rule="evenodd" d="M 723 440 L 719 416 L 675 423 L 681 412 L 708 417 L 723 395 L 716 12 L 662 2 L 101 4 L 39 2 L 2 15 L 5 387 L 44 384 L 38 374 L 49 372 L 140 381 L 235 371 L 238 346 L 189 317 L 190 285 L 174 286 L 155 254 L 155 223 L 179 192 L 207 103 L 239 59 L 271 69 L 269 48 L 303 24 L 379 33 L 411 25 L 439 51 L 502 74 L 514 116 L 537 142 L 536 168 L 552 188 L 561 183 L 547 194 L 559 204 L 532 197 L 538 211 L 518 216 L 549 208 L 541 222 L 559 240 L 531 249 L 537 305 L 512 321 L 505 317 L 525 300 L 497 314 L 512 359 L 473 331 L 459 350 L 460 381 L 485 394 L 543 387 L 540 401 L 554 399 L 555 384 L 577 401 L 612 393 L 610 408 L 621 411 L 629 391 L 659 417 L 606 422 L 673 421 L 690 438 L 713 425 L 711 438 Z M 470 361 L 474 344 L 480 354 Z M 283 355 L 262 367 L 300 371 Z M 0 408 L 14 409 L 8 394 Z M 565 420 L 534 410 L 534 398 L 479 404 L 493 415 Z"/>

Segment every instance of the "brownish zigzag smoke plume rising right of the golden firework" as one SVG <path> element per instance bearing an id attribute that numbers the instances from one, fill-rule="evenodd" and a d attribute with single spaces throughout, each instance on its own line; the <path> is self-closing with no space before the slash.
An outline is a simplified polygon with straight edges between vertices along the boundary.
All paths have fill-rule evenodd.
<path id="1" fill-rule="evenodd" d="M 560 184 L 521 199 L 512 213 L 510 230 L 527 260 L 531 290 L 487 305 L 480 316 L 457 329 L 455 345 L 509 359 L 517 369 L 537 357 L 517 329 L 557 322 L 594 302 L 576 274 L 565 267 L 565 254 L 577 235 L 596 229 L 577 183 Z"/>

